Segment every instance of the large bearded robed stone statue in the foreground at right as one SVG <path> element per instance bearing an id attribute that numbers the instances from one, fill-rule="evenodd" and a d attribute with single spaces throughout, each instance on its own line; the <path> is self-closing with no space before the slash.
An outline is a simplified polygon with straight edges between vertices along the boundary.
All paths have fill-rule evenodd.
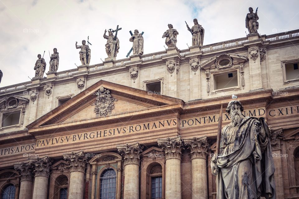
<path id="1" fill-rule="evenodd" d="M 243 106 L 227 105 L 230 124 L 221 130 L 219 156 L 211 159 L 217 199 L 275 199 L 274 162 L 263 117 L 243 117 Z M 215 161 L 216 159 L 216 161 Z"/>

